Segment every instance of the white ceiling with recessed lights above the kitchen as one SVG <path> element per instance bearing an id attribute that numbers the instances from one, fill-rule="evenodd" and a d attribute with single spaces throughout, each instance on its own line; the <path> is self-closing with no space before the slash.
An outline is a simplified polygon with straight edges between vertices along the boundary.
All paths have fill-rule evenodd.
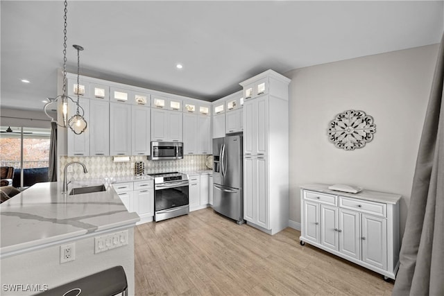
<path id="1" fill-rule="evenodd" d="M 63 2 L 0 5 L 0 105 L 42 110 L 57 95 Z M 83 75 L 214 101 L 266 69 L 438 43 L 443 17 L 443 1 L 71 0 L 67 69 L 80 44 Z"/>

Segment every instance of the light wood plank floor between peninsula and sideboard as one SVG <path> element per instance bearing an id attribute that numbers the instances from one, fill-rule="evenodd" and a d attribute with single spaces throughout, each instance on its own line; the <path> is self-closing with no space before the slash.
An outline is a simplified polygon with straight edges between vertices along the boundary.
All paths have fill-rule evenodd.
<path id="1" fill-rule="evenodd" d="M 210 208 L 135 228 L 136 295 L 391 295 L 393 283 Z"/>

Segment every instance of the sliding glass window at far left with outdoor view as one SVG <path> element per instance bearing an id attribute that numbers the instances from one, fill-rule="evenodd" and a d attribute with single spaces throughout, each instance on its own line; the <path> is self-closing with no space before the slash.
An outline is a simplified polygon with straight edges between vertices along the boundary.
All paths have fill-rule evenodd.
<path id="1" fill-rule="evenodd" d="M 47 182 L 51 129 L 1 126 L 0 131 L 0 164 L 14 168 L 12 186 Z"/>

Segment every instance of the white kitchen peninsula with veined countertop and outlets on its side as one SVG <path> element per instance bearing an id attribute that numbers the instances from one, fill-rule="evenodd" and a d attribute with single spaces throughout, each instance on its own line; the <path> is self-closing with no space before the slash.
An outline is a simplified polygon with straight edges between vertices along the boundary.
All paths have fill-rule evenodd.
<path id="1" fill-rule="evenodd" d="M 0 294 L 33 295 L 121 265 L 134 295 L 139 216 L 108 184 L 78 195 L 62 194 L 61 187 L 37 183 L 1 204 Z"/>

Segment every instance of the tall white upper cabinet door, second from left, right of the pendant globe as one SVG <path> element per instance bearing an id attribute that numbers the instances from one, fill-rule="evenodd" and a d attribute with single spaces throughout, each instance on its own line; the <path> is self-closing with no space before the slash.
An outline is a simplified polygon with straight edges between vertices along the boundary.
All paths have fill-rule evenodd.
<path id="1" fill-rule="evenodd" d="M 90 100 L 89 110 L 89 155 L 110 155 L 110 103 Z"/>

